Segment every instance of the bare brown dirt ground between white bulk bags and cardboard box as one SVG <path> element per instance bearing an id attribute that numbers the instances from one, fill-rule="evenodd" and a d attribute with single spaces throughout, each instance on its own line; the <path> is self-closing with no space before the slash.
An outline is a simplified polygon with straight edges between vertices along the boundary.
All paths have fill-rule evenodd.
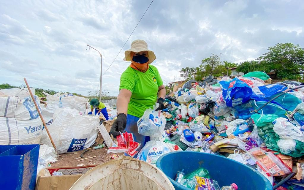
<path id="1" fill-rule="evenodd" d="M 94 147 L 94 146 L 93 146 Z M 88 150 L 83 154 L 84 158 L 88 157 L 93 157 L 94 158 L 89 158 L 86 160 L 78 161 L 83 158 L 81 158 L 81 153 L 83 153 L 85 150 L 79 150 L 77 152 L 71 152 L 71 153 L 65 153 L 65 154 L 60 154 L 58 161 L 55 163 L 52 163 L 51 166 L 77 166 L 80 164 L 83 165 L 88 165 L 88 164 L 102 164 L 106 161 L 111 160 L 111 155 L 113 153 L 107 154 L 107 147 L 100 148 L 93 150 L 93 147 L 87 148 L 85 150 Z M 117 155 L 123 155 L 123 153 L 116 153 Z"/>

